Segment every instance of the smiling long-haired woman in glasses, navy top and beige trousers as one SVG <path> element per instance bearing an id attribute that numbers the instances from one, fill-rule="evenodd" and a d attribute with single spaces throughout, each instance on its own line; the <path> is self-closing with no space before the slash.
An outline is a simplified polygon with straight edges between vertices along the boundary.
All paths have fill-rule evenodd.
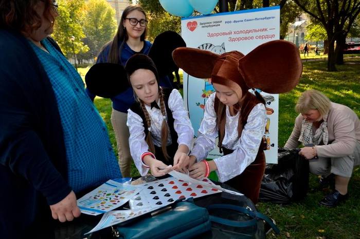
<path id="1" fill-rule="evenodd" d="M 113 41 L 104 46 L 96 63 L 117 63 L 124 66 L 132 55 L 148 54 L 151 43 L 145 40 L 147 23 L 145 11 L 140 6 L 130 5 L 125 8 Z M 169 82 L 165 86 L 172 88 Z M 94 100 L 95 94 L 88 90 L 87 93 Z M 126 122 L 128 109 L 135 102 L 133 90 L 129 87 L 111 100 L 113 102 L 111 122 L 116 136 L 120 170 L 124 177 L 130 177 L 132 158 L 129 148 L 130 134 Z"/>

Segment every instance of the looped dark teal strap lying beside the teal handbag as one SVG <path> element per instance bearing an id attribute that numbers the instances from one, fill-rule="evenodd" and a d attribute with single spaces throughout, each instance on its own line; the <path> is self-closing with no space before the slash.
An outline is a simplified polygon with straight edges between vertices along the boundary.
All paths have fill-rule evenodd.
<path id="1" fill-rule="evenodd" d="M 266 216 L 260 212 L 257 212 L 257 211 L 252 211 L 249 208 L 244 208 L 244 207 L 230 205 L 230 204 L 212 204 L 212 205 L 209 205 L 208 207 L 206 207 L 206 209 L 207 210 L 230 209 L 233 211 L 238 211 L 238 212 L 244 213 L 252 218 L 248 221 L 238 222 L 238 221 L 221 218 L 219 216 L 210 215 L 209 217 L 210 217 L 211 222 L 220 223 L 220 224 L 231 226 L 231 227 L 249 227 L 249 226 L 256 225 L 258 219 L 262 219 L 266 223 L 268 223 L 277 234 L 280 233 L 279 228 L 273 223 L 273 221 L 268 216 Z"/>

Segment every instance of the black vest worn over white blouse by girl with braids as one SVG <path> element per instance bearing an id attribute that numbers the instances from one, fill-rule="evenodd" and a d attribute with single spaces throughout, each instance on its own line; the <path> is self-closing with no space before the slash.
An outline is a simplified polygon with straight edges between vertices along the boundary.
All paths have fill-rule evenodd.
<path id="1" fill-rule="evenodd" d="M 169 89 L 169 88 L 162 88 L 163 89 L 163 93 L 164 93 L 164 102 L 165 102 L 165 109 L 166 109 L 166 115 L 167 115 L 167 123 L 168 123 L 168 126 L 169 126 L 169 130 L 170 130 L 170 136 L 171 136 L 171 142 L 172 144 L 167 146 L 167 151 L 168 151 L 168 154 L 170 156 L 170 159 L 167 160 L 165 157 L 164 157 L 164 154 L 163 154 L 163 151 L 161 150 L 161 147 L 157 147 L 156 145 L 155 146 L 155 156 L 156 156 L 156 159 L 167 164 L 167 165 L 173 165 L 173 157 L 175 155 L 175 152 L 177 150 L 177 147 L 178 147 L 178 144 L 177 144 L 177 133 L 174 129 L 174 118 L 172 117 L 172 112 L 171 110 L 169 109 L 169 96 L 170 96 L 170 93 L 172 91 L 172 89 Z M 145 140 L 146 140 L 146 137 L 148 136 L 148 127 L 146 127 L 146 119 L 145 119 L 145 114 L 142 112 L 142 109 L 141 109 L 141 106 L 138 102 L 135 102 L 131 107 L 130 109 L 138 114 L 141 119 L 142 119 L 142 122 L 144 124 L 144 133 L 145 133 Z"/>

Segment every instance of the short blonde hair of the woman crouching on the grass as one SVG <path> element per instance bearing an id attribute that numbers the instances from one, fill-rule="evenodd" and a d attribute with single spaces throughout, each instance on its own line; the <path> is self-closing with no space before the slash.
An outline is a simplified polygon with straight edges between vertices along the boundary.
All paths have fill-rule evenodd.
<path id="1" fill-rule="evenodd" d="M 309 110 L 318 110 L 321 117 L 326 115 L 331 107 L 330 99 L 317 90 L 306 90 L 300 95 L 295 106 L 297 113 L 305 114 Z"/>

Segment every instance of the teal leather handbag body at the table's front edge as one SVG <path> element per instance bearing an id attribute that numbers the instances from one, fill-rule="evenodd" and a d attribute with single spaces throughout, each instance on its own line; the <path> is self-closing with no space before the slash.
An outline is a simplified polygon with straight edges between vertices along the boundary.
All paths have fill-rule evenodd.
<path id="1" fill-rule="evenodd" d="M 211 223 L 206 208 L 191 202 L 175 203 L 170 210 L 126 225 L 117 226 L 118 238 L 192 238 L 209 231 Z"/>

